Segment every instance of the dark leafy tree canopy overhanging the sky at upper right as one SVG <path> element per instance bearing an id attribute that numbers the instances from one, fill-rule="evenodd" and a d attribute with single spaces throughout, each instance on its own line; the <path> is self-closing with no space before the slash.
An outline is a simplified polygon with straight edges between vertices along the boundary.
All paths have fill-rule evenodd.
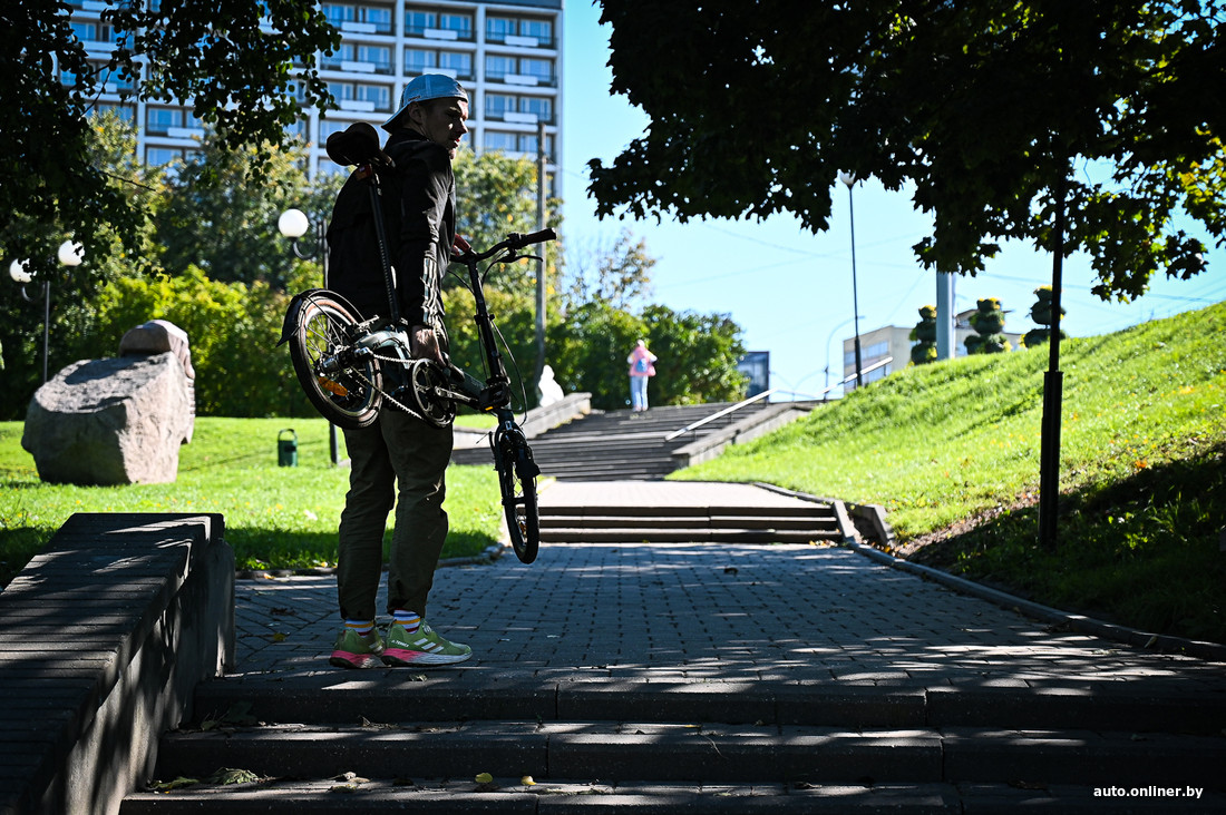
<path id="1" fill-rule="evenodd" d="M 821 230 L 848 170 L 913 185 L 927 267 L 973 275 L 1005 239 L 1081 248 L 1124 299 L 1201 271 L 1181 211 L 1226 245 L 1226 0 L 601 5 L 613 91 L 650 118 L 590 162 L 602 216 Z"/>

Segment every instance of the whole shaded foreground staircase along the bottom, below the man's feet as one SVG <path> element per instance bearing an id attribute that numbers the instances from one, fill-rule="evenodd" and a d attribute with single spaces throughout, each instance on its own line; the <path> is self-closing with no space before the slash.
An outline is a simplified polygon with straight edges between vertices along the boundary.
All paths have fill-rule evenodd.
<path id="1" fill-rule="evenodd" d="M 201 685 L 129 797 L 179 813 L 1222 811 L 1220 697 L 367 672 Z M 250 711 L 259 726 L 227 722 Z M 1114 729 L 1122 723 L 1127 730 Z M 490 781 L 477 779 L 489 773 Z M 531 776 L 535 783 L 527 783 Z M 1188 787 L 1210 787 L 1189 800 Z M 1216 787 L 1216 792 L 1213 789 Z M 1161 788 L 1105 799 L 1095 788 Z M 1187 809 L 1183 809 L 1187 808 Z"/>

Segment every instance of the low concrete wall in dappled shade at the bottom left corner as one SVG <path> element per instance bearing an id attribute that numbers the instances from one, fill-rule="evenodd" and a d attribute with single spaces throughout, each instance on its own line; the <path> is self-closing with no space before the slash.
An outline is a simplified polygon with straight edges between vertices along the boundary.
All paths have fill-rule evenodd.
<path id="1" fill-rule="evenodd" d="M 221 515 L 74 515 L 0 593 L 0 815 L 118 813 L 233 661 Z"/>

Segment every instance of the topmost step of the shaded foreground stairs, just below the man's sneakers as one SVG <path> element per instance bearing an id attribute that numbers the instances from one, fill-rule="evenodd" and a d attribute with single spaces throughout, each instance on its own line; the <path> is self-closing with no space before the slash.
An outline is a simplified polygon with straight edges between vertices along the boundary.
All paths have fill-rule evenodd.
<path id="1" fill-rule="evenodd" d="M 747 647 L 758 642 L 745 639 Z M 837 727 L 846 729 L 1011 728 L 1221 735 L 1226 699 L 1182 692 L 1140 697 L 1127 688 L 1075 686 L 880 688 L 847 684 L 761 684 L 672 679 L 549 680 L 533 675 L 485 681 L 466 670 L 446 674 L 365 672 L 287 675 L 277 681 L 221 679 L 196 688 L 201 719 L 222 719 L 235 705 L 261 722 L 352 724 L 370 721 L 577 718 L 623 721 L 651 711 L 661 721 Z M 429 717 L 423 718 L 423 717 Z"/>

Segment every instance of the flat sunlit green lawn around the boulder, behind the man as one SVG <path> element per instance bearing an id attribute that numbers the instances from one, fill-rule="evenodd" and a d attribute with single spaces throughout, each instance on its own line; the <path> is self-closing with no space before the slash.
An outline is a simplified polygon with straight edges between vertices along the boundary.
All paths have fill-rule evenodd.
<path id="1" fill-rule="evenodd" d="M 278 467 L 277 434 L 288 426 L 298 434 L 298 466 Z M 239 567 L 336 563 L 349 471 L 331 466 L 324 419 L 200 417 L 179 455 L 175 483 L 128 487 L 44 484 L 21 447 L 21 430 L 20 422 L 0 423 L 0 585 L 74 512 L 221 512 Z M 338 439 L 343 458 L 345 438 Z M 446 509 L 451 532 L 444 558 L 477 554 L 499 540 L 493 467 L 451 467 Z"/>

